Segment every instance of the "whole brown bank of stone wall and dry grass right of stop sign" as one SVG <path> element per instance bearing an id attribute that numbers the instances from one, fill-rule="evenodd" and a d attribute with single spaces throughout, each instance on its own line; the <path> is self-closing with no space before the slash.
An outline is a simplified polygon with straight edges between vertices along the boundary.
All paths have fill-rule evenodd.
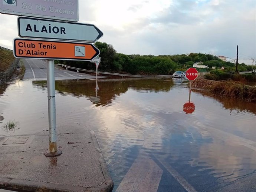
<path id="1" fill-rule="evenodd" d="M 192 82 L 192 87 L 207 89 L 218 95 L 231 99 L 248 100 L 256 102 L 256 87 L 245 85 L 235 81 L 213 81 L 198 78 Z"/>

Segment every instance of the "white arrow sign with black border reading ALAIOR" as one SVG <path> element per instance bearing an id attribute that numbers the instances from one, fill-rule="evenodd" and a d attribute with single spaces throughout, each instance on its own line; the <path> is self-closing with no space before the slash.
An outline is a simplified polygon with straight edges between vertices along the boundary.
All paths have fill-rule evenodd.
<path id="1" fill-rule="evenodd" d="M 96 42 L 103 36 L 93 24 L 53 21 L 31 17 L 18 17 L 20 37 L 43 39 L 64 39 L 84 42 Z"/>

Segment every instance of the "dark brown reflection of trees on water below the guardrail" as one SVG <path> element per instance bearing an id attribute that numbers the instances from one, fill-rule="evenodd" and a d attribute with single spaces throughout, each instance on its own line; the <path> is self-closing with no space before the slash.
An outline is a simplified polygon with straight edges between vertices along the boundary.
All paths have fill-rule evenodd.
<path id="1" fill-rule="evenodd" d="M 119 80 L 101 81 L 96 84 L 88 80 L 60 80 L 55 82 L 56 93 L 60 95 L 72 95 L 76 97 L 86 96 L 96 106 L 110 104 L 116 97 L 127 92 L 128 88 L 143 92 L 168 92 L 173 86 L 171 80 L 147 79 L 147 80 Z M 46 81 L 33 81 L 33 85 L 46 90 Z"/>

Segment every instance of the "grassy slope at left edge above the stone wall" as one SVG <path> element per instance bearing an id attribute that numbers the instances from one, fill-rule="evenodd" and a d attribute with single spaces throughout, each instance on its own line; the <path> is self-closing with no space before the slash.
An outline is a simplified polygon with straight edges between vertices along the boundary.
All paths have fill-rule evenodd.
<path id="1" fill-rule="evenodd" d="M 5 72 L 15 60 L 13 51 L 0 47 L 0 72 Z"/>

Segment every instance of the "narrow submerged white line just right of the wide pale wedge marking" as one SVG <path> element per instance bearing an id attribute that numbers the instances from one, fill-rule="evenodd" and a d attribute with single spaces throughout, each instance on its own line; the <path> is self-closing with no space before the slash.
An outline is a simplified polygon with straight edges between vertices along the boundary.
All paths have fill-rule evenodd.
<path id="1" fill-rule="evenodd" d="M 164 166 L 165 169 L 167 169 L 169 173 L 171 173 L 171 175 L 180 183 L 180 185 L 183 186 L 184 189 L 186 189 L 187 192 L 197 192 L 196 189 L 193 188 L 193 186 L 190 185 L 187 180 L 183 178 L 183 176 L 181 176 L 174 168 L 158 158 L 157 160 Z"/>

